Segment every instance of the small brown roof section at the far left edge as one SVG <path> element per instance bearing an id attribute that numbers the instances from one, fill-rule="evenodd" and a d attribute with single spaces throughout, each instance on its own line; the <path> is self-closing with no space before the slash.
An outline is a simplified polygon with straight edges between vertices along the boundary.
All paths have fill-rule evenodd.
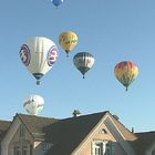
<path id="1" fill-rule="evenodd" d="M 10 124 L 11 124 L 10 121 L 2 121 L 2 120 L 0 120 L 0 141 L 6 135 L 7 130 L 8 130 L 8 127 L 9 127 Z"/>

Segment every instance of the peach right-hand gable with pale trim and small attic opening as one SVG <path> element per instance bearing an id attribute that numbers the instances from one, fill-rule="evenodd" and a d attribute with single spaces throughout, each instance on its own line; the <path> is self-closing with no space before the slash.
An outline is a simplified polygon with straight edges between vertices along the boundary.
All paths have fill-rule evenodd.
<path id="1" fill-rule="evenodd" d="M 110 141 L 110 142 L 114 142 L 117 145 L 117 148 L 120 151 L 120 153 L 122 155 L 125 155 L 126 153 L 130 155 L 135 155 L 134 149 L 132 147 L 132 145 L 128 143 L 130 136 L 127 136 L 128 138 L 126 138 L 124 135 L 124 133 L 128 133 L 131 134 L 131 141 L 134 141 L 134 136 L 128 130 L 125 128 L 125 126 L 123 126 L 122 124 L 120 124 L 120 127 L 124 127 L 124 132 L 122 132 L 118 127 L 118 124 L 115 124 L 115 122 L 113 121 L 113 116 L 110 113 L 106 113 L 106 115 L 104 115 L 99 123 L 96 124 L 96 126 L 94 128 L 92 128 L 91 133 L 83 140 L 83 142 L 74 149 L 74 152 L 72 153 L 72 155 L 74 154 L 81 154 L 82 149 L 85 147 L 91 147 L 91 142 L 93 141 Z M 105 130 L 107 131 L 107 135 L 101 135 L 100 132 L 102 130 L 102 127 L 105 127 Z M 125 131 L 126 130 L 126 131 Z M 90 154 L 90 153 L 89 153 Z M 84 155 L 81 154 L 81 155 Z"/>

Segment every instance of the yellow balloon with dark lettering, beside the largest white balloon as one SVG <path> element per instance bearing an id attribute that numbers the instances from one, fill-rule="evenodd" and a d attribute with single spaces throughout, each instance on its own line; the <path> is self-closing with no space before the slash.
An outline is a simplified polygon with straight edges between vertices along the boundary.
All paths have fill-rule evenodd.
<path id="1" fill-rule="evenodd" d="M 78 44 L 78 35 L 73 31 L 62 32 L 59 37 L 59 43 L 66 52 L 69 56 L 69 52 L 71 52 L 75 45 Z"/>

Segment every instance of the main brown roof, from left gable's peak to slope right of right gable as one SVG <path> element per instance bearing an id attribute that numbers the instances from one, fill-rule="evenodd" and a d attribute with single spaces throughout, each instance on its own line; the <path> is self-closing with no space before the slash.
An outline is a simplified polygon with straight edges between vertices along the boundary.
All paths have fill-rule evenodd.
<path id="1" fill-rule="evenodd" d="M 52 143 L 52 147 L 46 155 L 69 155 L 81 144 L 87 134 L 91 133 L 106 113 L 108 112 L 100 112 L 64 120 L 24 114 L 18 114 L 18 116 L 23 124 L 25 124 L 28 131 L 35 140 Z M 117 118 L 115 118 L 111 113 L 108 114 L 127 141 L 136 138 L 136 136 L 132 134 Z"/>

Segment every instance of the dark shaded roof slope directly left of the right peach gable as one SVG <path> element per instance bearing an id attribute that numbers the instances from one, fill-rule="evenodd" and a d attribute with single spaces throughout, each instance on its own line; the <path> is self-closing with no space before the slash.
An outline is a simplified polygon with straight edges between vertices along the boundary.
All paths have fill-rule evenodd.
<path id="1" fill-rule="evenodd" d="M 71 155 L 106 112 L 61 120 L 46 128 L 53 146 L 46 155 Z M 49 131 L 49 132 L 48 132 Z"/>

